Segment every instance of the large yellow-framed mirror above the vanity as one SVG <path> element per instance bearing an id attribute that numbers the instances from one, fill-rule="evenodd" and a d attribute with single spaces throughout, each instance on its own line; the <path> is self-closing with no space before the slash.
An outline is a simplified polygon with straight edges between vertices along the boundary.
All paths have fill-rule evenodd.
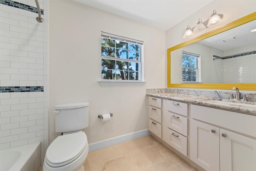
<path id="1" fill-rule="evenodd" d="M 244 90 L 256 90 L 256 34 L 250 32 L 251 28 L 255 27 L 256 12 L 169 48 L 167 50 L 168 87 L 232 89 L 232 87 L 237 86 Z M 246 28 L 249 29 L 249 37 L 246 37 L 242 32 Z M 230 38 L 230 40 L 228 39 L 224 42 L 223 40 L 226 38 Z M 217 43 L 216 40 L 218 41 Z M 252 44 L 253 48 L 248 48 L 250 44 Z M 196 82 L 191 82 L 191 78 L 188 79 L 189 76 L 183 75 L 188 72 L 184 72 L 185 70 L 182 72 L 182 64 L 184 62 L 182 62 L 182 52 L 200 55 L 197 58 L 198 79 Z M 249 59 L 247 57 L 250 56 L 254 56 L 254 62 L 244 60 Z M 246 63 L 246 61 L 249 62 Z M 245 63 L 245 65 L 242 66 L 242 63 Z M 229 70 L 234 68 L 235 65 L 240 69 L 238 72 L 236 68 L 236 75 L 234 75 L 234 71 Z M 254 76 L 250 76 L 251 74 L 246 72 L 248 68 L 251 68 L 250 72 L 254 73 Z M 246 73 L 248 74 L 247 78 L 245 76 Z"/>

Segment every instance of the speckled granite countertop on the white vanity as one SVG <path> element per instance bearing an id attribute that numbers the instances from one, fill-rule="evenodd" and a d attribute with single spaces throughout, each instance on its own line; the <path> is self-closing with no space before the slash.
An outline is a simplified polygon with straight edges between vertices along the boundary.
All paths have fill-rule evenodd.
<path id="1" fill-rule="evenodd" d="M 256 116 L 256 103 L 241 101 L 241 103 L 238 103 L 238 105 L 227 104 L 227 103 L 223 103 L 221 101 L 222 99 L 220 99 L 220 98 L 204 97 L 204 96 L 197 96 L 197 95 L 184 95 L 184 94 L 179 94 L 179 93 L 147 93 L 147 95 Z M 218 100 L 218 101 L 214 101 L 214 100 Z M 226 100 L 226 101 L 228 101 L 228 100 Z M 242 103 L 252 104 L 252 106 L 244 106 L 244 105 L 242 105 Z"/>

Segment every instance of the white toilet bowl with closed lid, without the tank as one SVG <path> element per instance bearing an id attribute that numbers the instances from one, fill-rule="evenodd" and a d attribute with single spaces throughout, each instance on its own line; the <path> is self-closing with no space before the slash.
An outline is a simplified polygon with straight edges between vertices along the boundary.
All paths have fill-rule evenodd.
<path id="1" fill-rule="evenodd" d="M 46 151 L 43 171 L 84 171 L 88 151 L 84 132 L 58 136 Z"/>

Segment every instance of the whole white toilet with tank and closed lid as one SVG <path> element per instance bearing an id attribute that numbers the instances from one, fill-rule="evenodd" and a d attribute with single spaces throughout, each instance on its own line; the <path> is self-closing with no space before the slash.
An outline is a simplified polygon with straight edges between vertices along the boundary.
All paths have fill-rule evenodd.
<path id="1" fill-rule="evenodd" d="M 49 145 L 43 171 L 84 171 L 89 151 L 86 134 L 89 103 L 66 103 L 55 106 L 55 131 L 63 133 Z"/>

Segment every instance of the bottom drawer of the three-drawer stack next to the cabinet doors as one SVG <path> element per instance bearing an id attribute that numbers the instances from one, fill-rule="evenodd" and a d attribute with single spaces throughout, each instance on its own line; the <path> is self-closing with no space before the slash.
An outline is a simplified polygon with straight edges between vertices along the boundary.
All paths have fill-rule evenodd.
<path id="1" fill-rule="evenodd" d="M 172 129 L 166 128 L 168 132 L 167 143 L 174 147 L 176 150 L 180 151 L 183 155 L 188 155 L 188 138 L 183 135 L 173 131 Z"/>

